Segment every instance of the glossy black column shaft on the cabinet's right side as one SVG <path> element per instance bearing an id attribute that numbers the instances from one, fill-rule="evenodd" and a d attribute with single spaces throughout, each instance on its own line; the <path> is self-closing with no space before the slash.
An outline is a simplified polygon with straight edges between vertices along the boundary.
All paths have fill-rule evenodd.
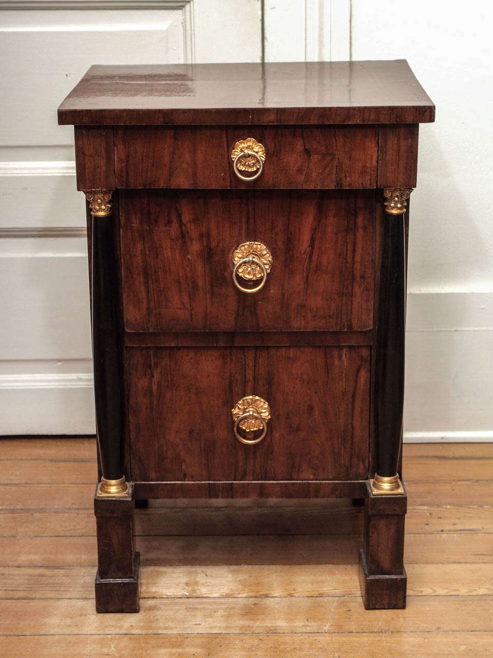
<path id="1" fill-rule="evenodd" d="M 377 472 L 393 476 L 402 442 L 406 254 L 404 215 L 384 217 L 373 399 Z"/>

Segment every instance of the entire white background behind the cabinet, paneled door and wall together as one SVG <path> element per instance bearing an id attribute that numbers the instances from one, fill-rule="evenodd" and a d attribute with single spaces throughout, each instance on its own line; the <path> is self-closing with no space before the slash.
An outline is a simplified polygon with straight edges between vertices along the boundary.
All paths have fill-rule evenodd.
<path id="1" fill-rule="evenodd" d="M 0 0 L 0 434 L 94 429 L 83 198 L 59 101 L 91 63 L 263 52 L 405 58 L 436 103 L 411 197 L 406 440 L 493 439 L 490 5 L 266 0 L 263 48 L 260 10 L 260 0 Z"/>

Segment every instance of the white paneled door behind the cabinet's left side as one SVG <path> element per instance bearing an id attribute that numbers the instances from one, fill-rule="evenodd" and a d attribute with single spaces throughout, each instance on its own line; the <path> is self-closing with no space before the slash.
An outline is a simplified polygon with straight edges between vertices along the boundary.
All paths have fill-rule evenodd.
<path id="1" fill-rule="evenodd" d="M 0 434 L 95 431 L 84 199 L 57 106 L 91 64 L 260 61 L 260 0 L 0 0 Z"/>

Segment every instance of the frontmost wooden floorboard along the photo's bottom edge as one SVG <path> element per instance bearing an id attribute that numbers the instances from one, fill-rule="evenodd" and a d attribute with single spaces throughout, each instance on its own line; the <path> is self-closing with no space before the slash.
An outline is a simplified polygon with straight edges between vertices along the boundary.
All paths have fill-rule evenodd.
<path id="1" fill-rule="evenodd" d="M 280 632 L 275 634 L 91 634 L 84 638 L 81 645 L 78 636 L 47 636 L 35 638 L 5 638 L 0 649 L 12 655 L 29 653 L 35 647 L 39 658 L 53 658 L 53 642 L 57 642 L 57 656 L 74 656 L 86 658 L 88 655 L 126 655 L 142 652 L 156 658 L 176 655 L 179 658 L 195 657 L 204 651 L 210 655 L 227 655 L 237 658 L 250 658 L 251 655 L 269 657 L 296 655 L 310 658 L 322 655 L 353 656 L 365 647 L 365 656 L 379 658 L 382 655 L 382 642 L 392 643 L 392 658 L 409 658 L 426 651 L 427 658 L 444 658 L 463 647 L 470 655 L 488 655 L 492 644 L 491 632 L 448 632 L 440 630 L 421 632 L 399 632 L 399 635 L 386 632 L 342 632 L 319 634 L 300 632 L 293 634 Z M 398 641 L 396 641 L 398 640 Z M 137 653 L 138 655 L 138 653 Z"/>

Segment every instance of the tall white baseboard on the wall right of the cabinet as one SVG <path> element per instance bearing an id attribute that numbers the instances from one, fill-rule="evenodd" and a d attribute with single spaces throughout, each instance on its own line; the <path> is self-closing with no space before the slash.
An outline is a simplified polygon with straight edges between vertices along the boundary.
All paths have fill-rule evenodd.
<path id="1" fill-rule="evenodd" d="M 408 295 L 404 436 L 493 441 L 493 293 Z"/>

